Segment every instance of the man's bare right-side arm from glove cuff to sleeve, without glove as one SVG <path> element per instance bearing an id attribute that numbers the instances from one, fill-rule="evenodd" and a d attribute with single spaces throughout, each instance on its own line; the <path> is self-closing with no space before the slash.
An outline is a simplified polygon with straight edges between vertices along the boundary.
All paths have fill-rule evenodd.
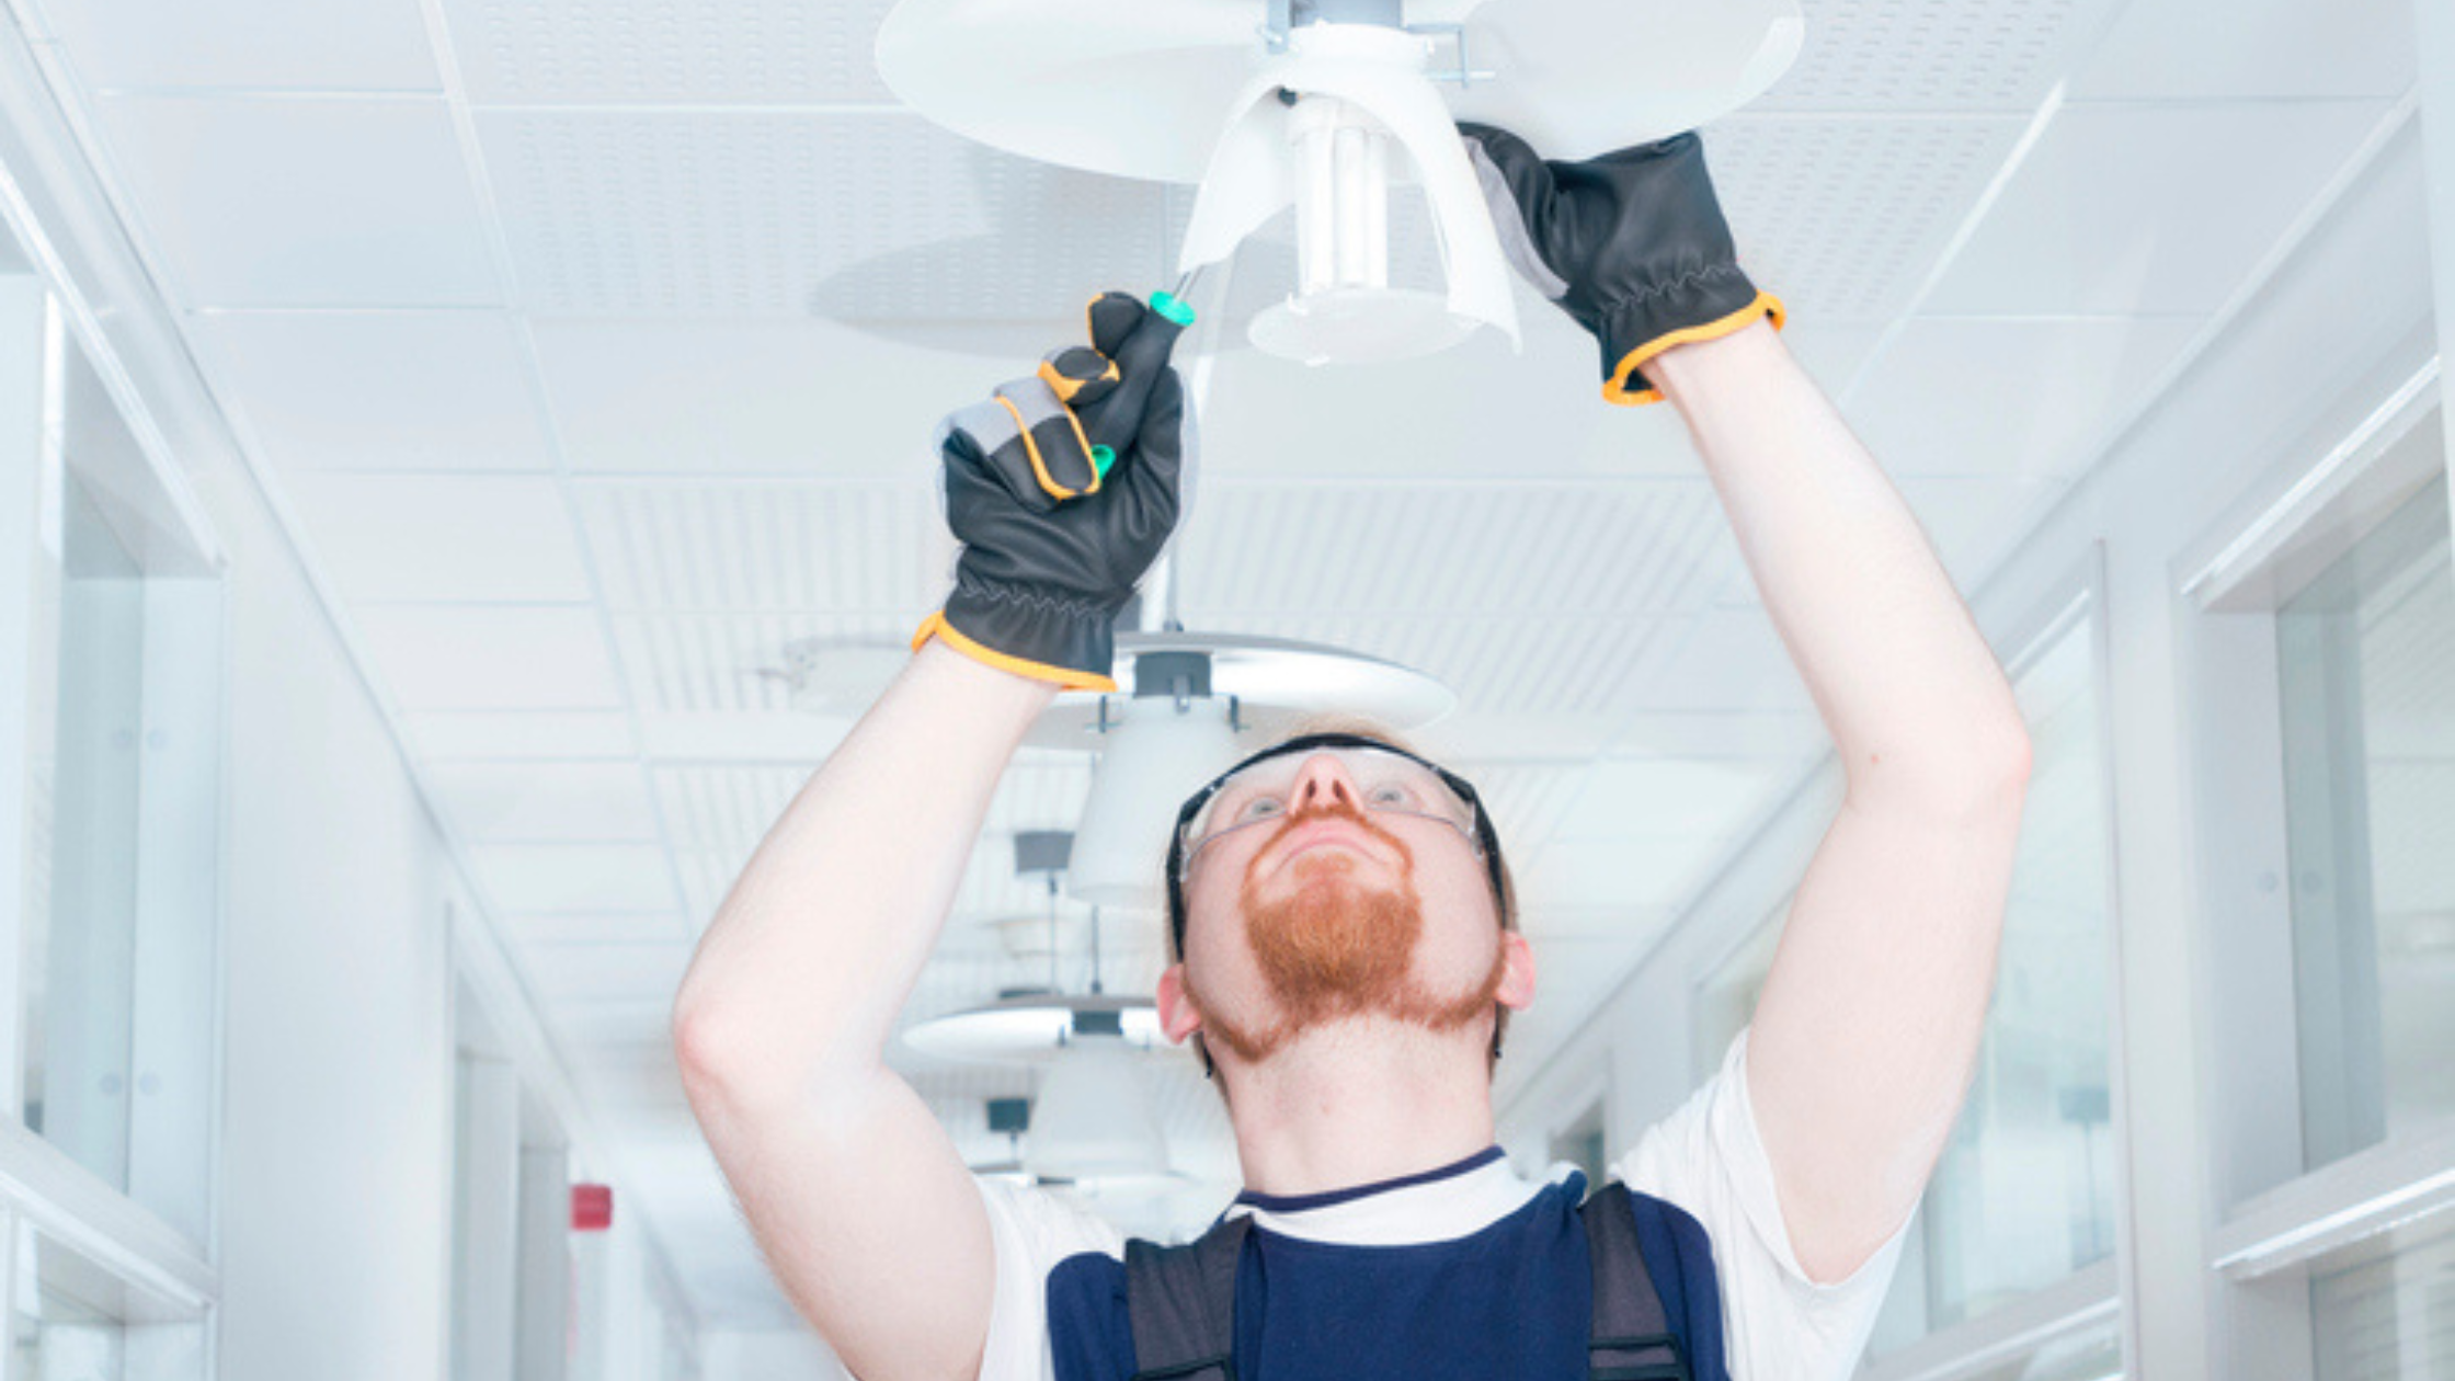
<path id="1" fill-rule="evenodd" d="M 2028 730 L 1908 504 L 1773 327 L 1645 374 L 1687 418 L 1849 781 L 1748 1035 L 1790 1243 L 1839 1280 L 1917 1207 L 1969 1089 Z"/>

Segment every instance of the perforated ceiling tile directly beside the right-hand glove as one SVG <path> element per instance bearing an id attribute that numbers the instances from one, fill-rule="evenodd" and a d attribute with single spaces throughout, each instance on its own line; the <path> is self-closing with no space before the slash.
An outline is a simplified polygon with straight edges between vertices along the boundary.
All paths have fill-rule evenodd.
<path id="1" fill-rule="evenodd" d="M 2028 115 L 1733 115 L 1706 162 L 1738 263 L 1790 322 L 1890 322 L 1976 209 Z"/>

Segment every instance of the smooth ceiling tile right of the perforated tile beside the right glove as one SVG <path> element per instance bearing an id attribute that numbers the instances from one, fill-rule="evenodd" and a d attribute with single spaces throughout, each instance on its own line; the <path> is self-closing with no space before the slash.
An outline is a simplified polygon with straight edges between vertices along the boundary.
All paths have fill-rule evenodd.
<path id="1" fill-rule="evenodd" d="M 2384 113 L 2379 101 L 2067 106 L 1925 310 L 2214 312 Z"/>

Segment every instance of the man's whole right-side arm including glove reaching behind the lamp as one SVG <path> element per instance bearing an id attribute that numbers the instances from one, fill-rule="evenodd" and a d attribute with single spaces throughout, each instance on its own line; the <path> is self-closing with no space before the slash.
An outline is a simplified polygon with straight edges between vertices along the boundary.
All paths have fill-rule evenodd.
<path id="1" fill-rule="evenodd" d="M 1790 1246 L 1839 1280 L 1917 1204 L 1969 1086 L 2028 730 L 1908 504 L 1738 268 L 1699 138 L 1549 162 L 1461 133 L 1520 273 L 1603 346 L 1603 398 L 1687 418 L 1841 752 L 1849 799 L 1748 1035 Z"/>

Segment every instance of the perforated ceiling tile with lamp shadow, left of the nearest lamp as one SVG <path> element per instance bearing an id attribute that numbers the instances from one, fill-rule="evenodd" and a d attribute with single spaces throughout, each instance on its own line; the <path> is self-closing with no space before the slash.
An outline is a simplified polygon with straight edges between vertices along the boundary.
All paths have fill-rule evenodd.
<path id="1" fill-rule="evenodd" d="M 543 312 L 1061 319 L 1166 265 L 1159 184 L 908 113 L 479 111 L 479 140 Z"/>

